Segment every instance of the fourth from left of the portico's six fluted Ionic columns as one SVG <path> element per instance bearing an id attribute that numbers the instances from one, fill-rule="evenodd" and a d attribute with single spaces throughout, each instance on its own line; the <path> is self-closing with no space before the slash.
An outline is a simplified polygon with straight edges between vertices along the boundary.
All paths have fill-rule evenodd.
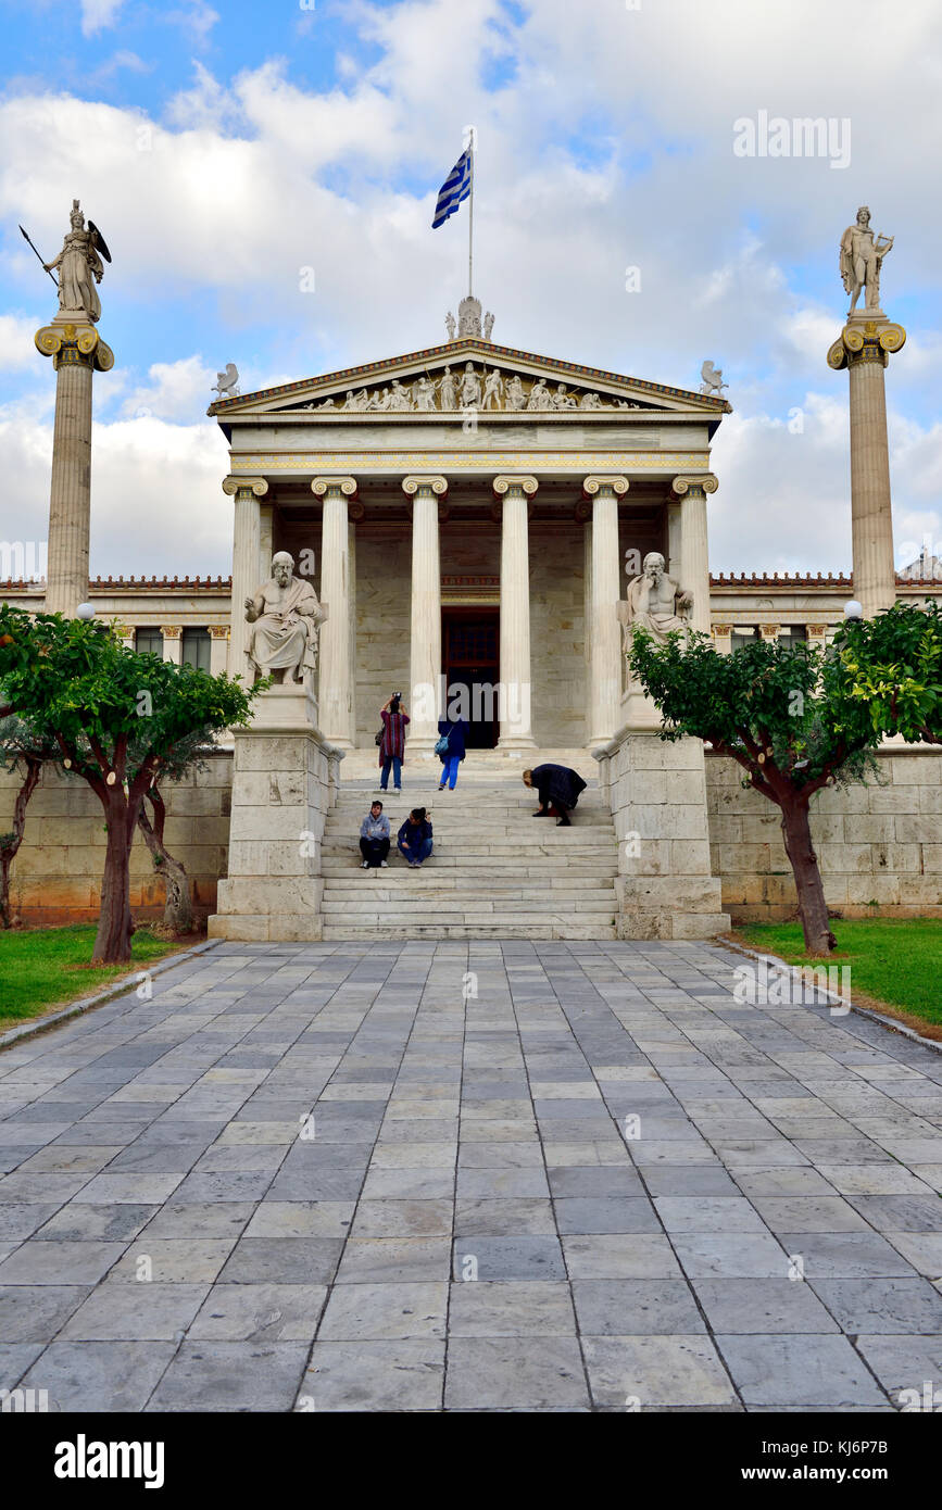
<path id="1" fill-rule="evenodd" d="M 536 749 L 530 707 L 530 498 L 536 477 L 494 479 L 501 506 L 500 708 L 501 750 Z"/>

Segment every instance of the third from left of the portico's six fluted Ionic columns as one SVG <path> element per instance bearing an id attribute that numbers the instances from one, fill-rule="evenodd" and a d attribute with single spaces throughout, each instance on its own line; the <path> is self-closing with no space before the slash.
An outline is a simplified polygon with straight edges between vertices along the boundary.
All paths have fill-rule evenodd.
<path id="1" fill-rule="evenodd" d="M 430 753 L 438 738 L 441 664 L 441 554 L 438 500 L 448 491 L 445 477 L 403 477 L 412 498 L 412 619 L 409 631 L 409 743 Z"/>

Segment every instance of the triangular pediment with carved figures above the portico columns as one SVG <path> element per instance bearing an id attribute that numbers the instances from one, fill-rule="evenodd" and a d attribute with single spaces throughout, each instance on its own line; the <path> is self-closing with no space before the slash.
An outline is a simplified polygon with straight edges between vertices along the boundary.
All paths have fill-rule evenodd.
<path id="1" fill-rule="evenodd" d="M 717 423 L 729 412 L 729 403 L 687 388 L 643 382 L 495 346 L 480 337 L 465 337 L 405 356 L 220 399 L 208 414 L 225 426 L 240 418 L 382 415 L 399 420 L 462 414 L 466 409 L 476 409 L 482 417 L 536 414 L 540 420 L 655 411 Z"/>

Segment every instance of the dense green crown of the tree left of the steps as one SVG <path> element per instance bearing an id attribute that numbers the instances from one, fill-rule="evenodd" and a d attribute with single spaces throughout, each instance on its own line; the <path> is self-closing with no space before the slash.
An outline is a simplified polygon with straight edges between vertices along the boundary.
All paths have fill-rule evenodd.
<path id="1" fill-rule="evenodd" d="M 3 713 L 15 713 L 95 790 L 177 775 L 198 740 L 248 720 L 257 689 L 127 649 L 95 621 L 0 604 Z M 101 794 L 101 793 L 100 793 Z"/>

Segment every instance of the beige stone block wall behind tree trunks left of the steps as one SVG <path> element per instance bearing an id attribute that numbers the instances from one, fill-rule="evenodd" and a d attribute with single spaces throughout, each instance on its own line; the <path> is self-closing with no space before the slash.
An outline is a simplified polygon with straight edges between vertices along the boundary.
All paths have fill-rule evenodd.
<path id="1" fill-rule="evenodd" d="M 232 787 L 231 752 L 165 788 L 166 844 L 193 880 L 199 915 L 216 908 L 216 882 L 226 874 Z M 20 778 L 0 772 L 0 830 L 9 830 Z M 26 834 L 12 865 L 11 900 L 29 924 L 91 923 L 98 918 L 104 870 L 104 814 L 83 781 L 51 767 L 26 811 Z M 131 906 L 137 917 L 163 915 L 165 885 L 140 835 L 131 849 Z"/>

